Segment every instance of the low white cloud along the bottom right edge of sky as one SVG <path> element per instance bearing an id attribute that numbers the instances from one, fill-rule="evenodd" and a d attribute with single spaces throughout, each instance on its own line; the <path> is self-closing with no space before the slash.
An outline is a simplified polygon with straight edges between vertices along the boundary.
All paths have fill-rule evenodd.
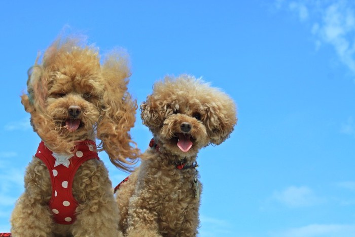
<path id="1" fill-rule="evenodd" d="M 311 224 L 271 234 L 273 237 L 353 237 L 355 224 Z"/>

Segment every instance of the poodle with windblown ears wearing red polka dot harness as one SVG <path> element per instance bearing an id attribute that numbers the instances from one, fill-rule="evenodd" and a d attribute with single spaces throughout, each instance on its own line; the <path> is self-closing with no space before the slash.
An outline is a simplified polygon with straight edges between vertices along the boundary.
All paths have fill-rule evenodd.
<path id="1" fill-rule="evenodd" d="M 97 152 L 122 170 L 139 155 L 129 134 L 137 106 L 127 92 L 125 55 L 112 52 L 100 64 L 97 49 L 67 37 L 28 74 L 21 102 L 42 142 L 12 213 L 13 236 L 121 236 L 112 183 Z"/>

